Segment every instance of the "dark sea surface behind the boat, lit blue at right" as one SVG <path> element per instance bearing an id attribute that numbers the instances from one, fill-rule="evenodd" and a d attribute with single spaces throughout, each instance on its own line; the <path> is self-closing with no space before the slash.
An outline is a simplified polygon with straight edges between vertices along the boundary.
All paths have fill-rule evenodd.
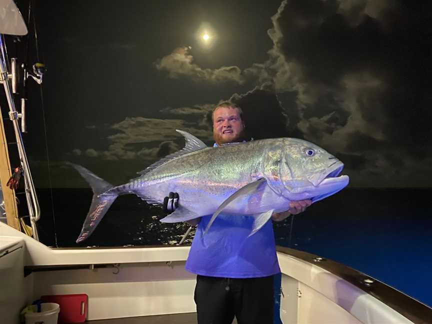
<path id="1" fill-rule="evenodd" d="M 91 190 L 37 191 L 42 210 L 39 236 L 50 246 L 174 245 L 188 227 L 161 223 L 160 207 L 124 195 L 93 234 L 76 244 Z M 276 244 L 343 263 L 432 306 L 431 196 L 431 188 L 345 188 L 293 218 L 273 223 Z M 192 237 L 193 232 L 185 243 Z"/>

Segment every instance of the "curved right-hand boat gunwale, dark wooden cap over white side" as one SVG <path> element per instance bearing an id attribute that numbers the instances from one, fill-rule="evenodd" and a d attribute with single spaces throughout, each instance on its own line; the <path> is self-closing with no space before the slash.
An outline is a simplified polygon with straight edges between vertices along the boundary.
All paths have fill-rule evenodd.
<path id="1" fill-rule="evenodd" d="M 360 322 L 431 322 L 432 308 L 374 277 L 298 249 L 276 246 L 276 251 L 282 274 L 316 289 Z"/>

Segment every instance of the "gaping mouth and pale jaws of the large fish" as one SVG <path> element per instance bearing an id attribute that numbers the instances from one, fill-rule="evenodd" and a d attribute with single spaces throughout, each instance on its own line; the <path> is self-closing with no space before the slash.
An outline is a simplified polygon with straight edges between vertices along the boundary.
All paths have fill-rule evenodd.
<path id="1" fill-rule="evenodd" d="M 342 169 L 343 163 L 341 161 L 336 161 L 327 168 L 322 180 L 317 185 L 321 189 L 319 191 L 323 191 L 323 193 L 313 196 L 311 198 L 312 202 L 324 199 L 342 190 L 348 184 L 349 177 L 347 175 L 339 175 Z"/>

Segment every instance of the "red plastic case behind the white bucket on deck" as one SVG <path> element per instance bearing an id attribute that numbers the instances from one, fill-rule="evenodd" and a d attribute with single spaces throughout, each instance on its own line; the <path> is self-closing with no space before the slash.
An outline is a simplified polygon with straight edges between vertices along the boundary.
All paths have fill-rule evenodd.
<path id="1" fill-rule="evenodd" d="M 42 302 L 60 305 L 58 323 L 82 323 L 87 316 L 88 296 L 85 293 L 41 296 Z"/>

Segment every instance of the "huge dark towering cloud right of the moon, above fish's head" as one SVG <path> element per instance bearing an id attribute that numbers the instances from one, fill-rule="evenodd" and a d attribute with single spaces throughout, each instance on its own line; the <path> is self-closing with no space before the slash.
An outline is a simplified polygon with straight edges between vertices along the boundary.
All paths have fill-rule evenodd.
<path id="1" fill-rule="evenodd" d="M 432 156 L 431 8 L 285 0 L 268 31 L 270 59 L 251 72 L 295 93 L 283 103 L 297 111 L 301 137 L 344 152 L 350 167 L 406 175 L 407 161 L 414 172 Z"/>

